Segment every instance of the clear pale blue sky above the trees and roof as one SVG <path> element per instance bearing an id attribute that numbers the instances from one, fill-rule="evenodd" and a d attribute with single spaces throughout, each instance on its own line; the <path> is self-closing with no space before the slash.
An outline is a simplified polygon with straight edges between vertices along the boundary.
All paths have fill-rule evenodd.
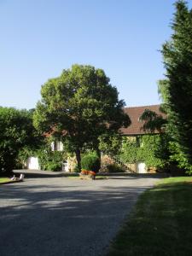
<path id="1" fill-rule="evenodd" d="M 159 103 L 174 2 L 0 0 L 0 106 L 35 108 L 41 85 L 74 63 L 102 68 L 128 107 Z"/>

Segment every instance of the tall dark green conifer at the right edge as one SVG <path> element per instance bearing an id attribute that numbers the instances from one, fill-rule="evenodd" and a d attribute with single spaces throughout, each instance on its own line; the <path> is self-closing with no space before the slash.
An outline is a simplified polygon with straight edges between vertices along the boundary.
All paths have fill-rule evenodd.
<path id="1" fill-rule="evenodd" d="M 160 80 L 162 107 L 167 113 L 167 131 L 172 137 L 172 154 L 180 166 L 192 165 L 192 10 L 177 1 L 172 37 L 163 44 L 166 79 Z M 175 148 L 175 150 L 174 150 Z"/>

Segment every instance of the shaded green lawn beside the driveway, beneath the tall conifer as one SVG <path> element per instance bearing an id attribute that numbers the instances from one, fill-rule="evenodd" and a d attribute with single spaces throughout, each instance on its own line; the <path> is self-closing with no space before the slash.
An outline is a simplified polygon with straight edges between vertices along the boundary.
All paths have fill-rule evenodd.
<path id="1" fill-rule="evenodd" d="M 192 255 L 192 177 L 165 178 L 139 197 L 108 256 Z"/>

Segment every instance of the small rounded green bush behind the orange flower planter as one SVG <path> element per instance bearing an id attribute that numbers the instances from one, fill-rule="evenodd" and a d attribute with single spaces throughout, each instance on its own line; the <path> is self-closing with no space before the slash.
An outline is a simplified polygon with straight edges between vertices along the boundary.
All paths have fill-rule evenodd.
<path id="1" fill-rule="evenodd" d="M 81 160 L 82 169 L 99 172 L 100 166 L 100 158 L 98 157 L 98 155 L 96 155 L 96 153 L 84 154 Z"/>

